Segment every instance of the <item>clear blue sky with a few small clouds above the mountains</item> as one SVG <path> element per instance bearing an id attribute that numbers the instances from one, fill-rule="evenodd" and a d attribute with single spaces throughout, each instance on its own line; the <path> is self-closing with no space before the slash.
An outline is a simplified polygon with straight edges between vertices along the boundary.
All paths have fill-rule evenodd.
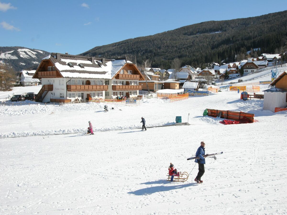
<path id="1" fill-rule="evenodd" d="M 95 46 L 203 21 L 284 10 L 286 0 L 276 4 L 265 0 L 0 0 L 0 46 L 80 54 Z"/>

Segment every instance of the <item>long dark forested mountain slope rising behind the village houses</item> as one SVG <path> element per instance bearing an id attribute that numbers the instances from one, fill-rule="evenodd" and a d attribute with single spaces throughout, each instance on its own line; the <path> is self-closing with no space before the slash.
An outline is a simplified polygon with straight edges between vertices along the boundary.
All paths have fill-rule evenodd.
<path id="1" fill-rule="evenodd" d="M 171 61 L 179 58 L 181 65 L 205 68 L 205 63 L 209 62 L 241 60 L 251 48 L 260 48 L 259 52 L 252 53 L 253 56 L 286 51 L 286 36 L 287 11 L 282 11 L 242 19 L 206 21 L 97 46 L 81 55 L 110 59 L 126 56 L 133 62 L 136 56 L 138 64 L 149 59 L 152 67 L 163 69 L 170 68 Z"/>

